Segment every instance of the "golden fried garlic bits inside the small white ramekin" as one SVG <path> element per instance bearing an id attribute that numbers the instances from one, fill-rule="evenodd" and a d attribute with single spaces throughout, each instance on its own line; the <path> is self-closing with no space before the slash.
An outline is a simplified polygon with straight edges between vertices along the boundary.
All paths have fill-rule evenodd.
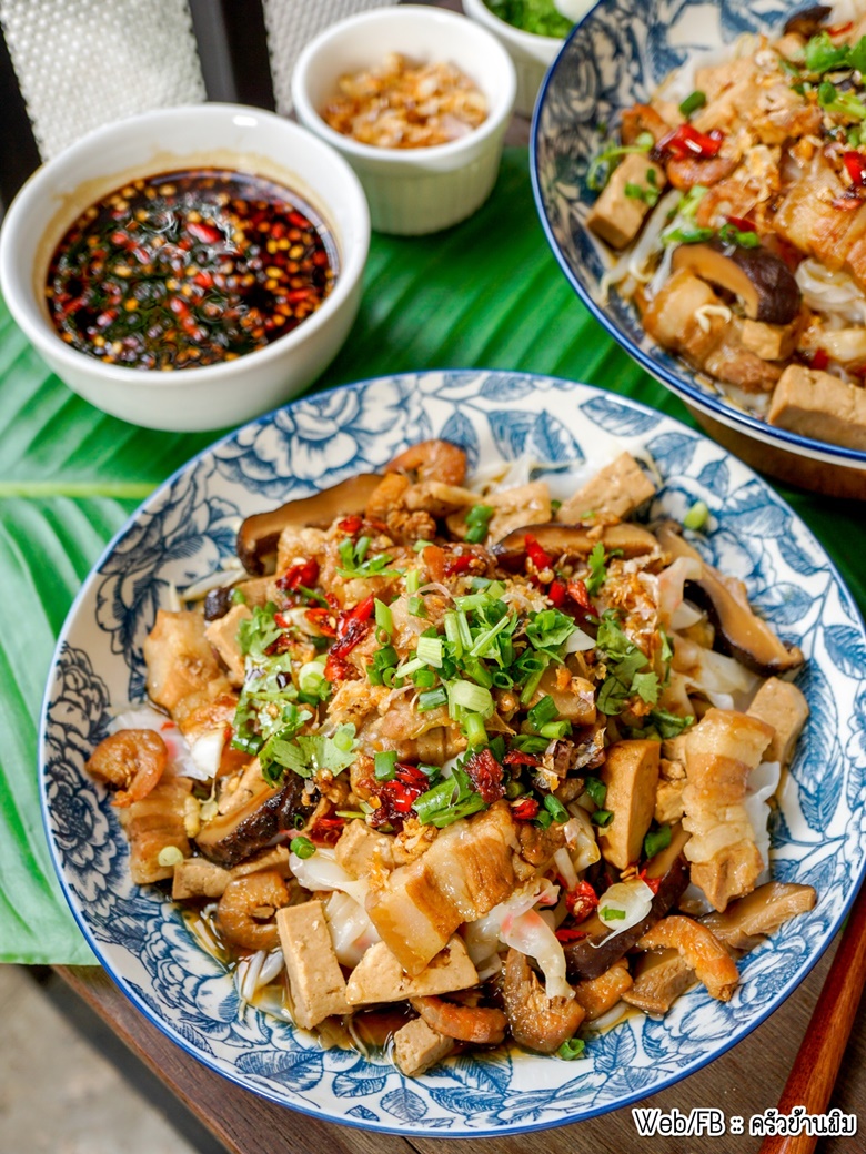
<path id="1" fill-rule="evenodd" d="M 322 108 L 336 132 L 376 148 L 430 148 L 477 128 L 487 102 L 454 65 L 418 65 L 389 53 L 379 68 L 341 76 L 341 95 Z"/>

